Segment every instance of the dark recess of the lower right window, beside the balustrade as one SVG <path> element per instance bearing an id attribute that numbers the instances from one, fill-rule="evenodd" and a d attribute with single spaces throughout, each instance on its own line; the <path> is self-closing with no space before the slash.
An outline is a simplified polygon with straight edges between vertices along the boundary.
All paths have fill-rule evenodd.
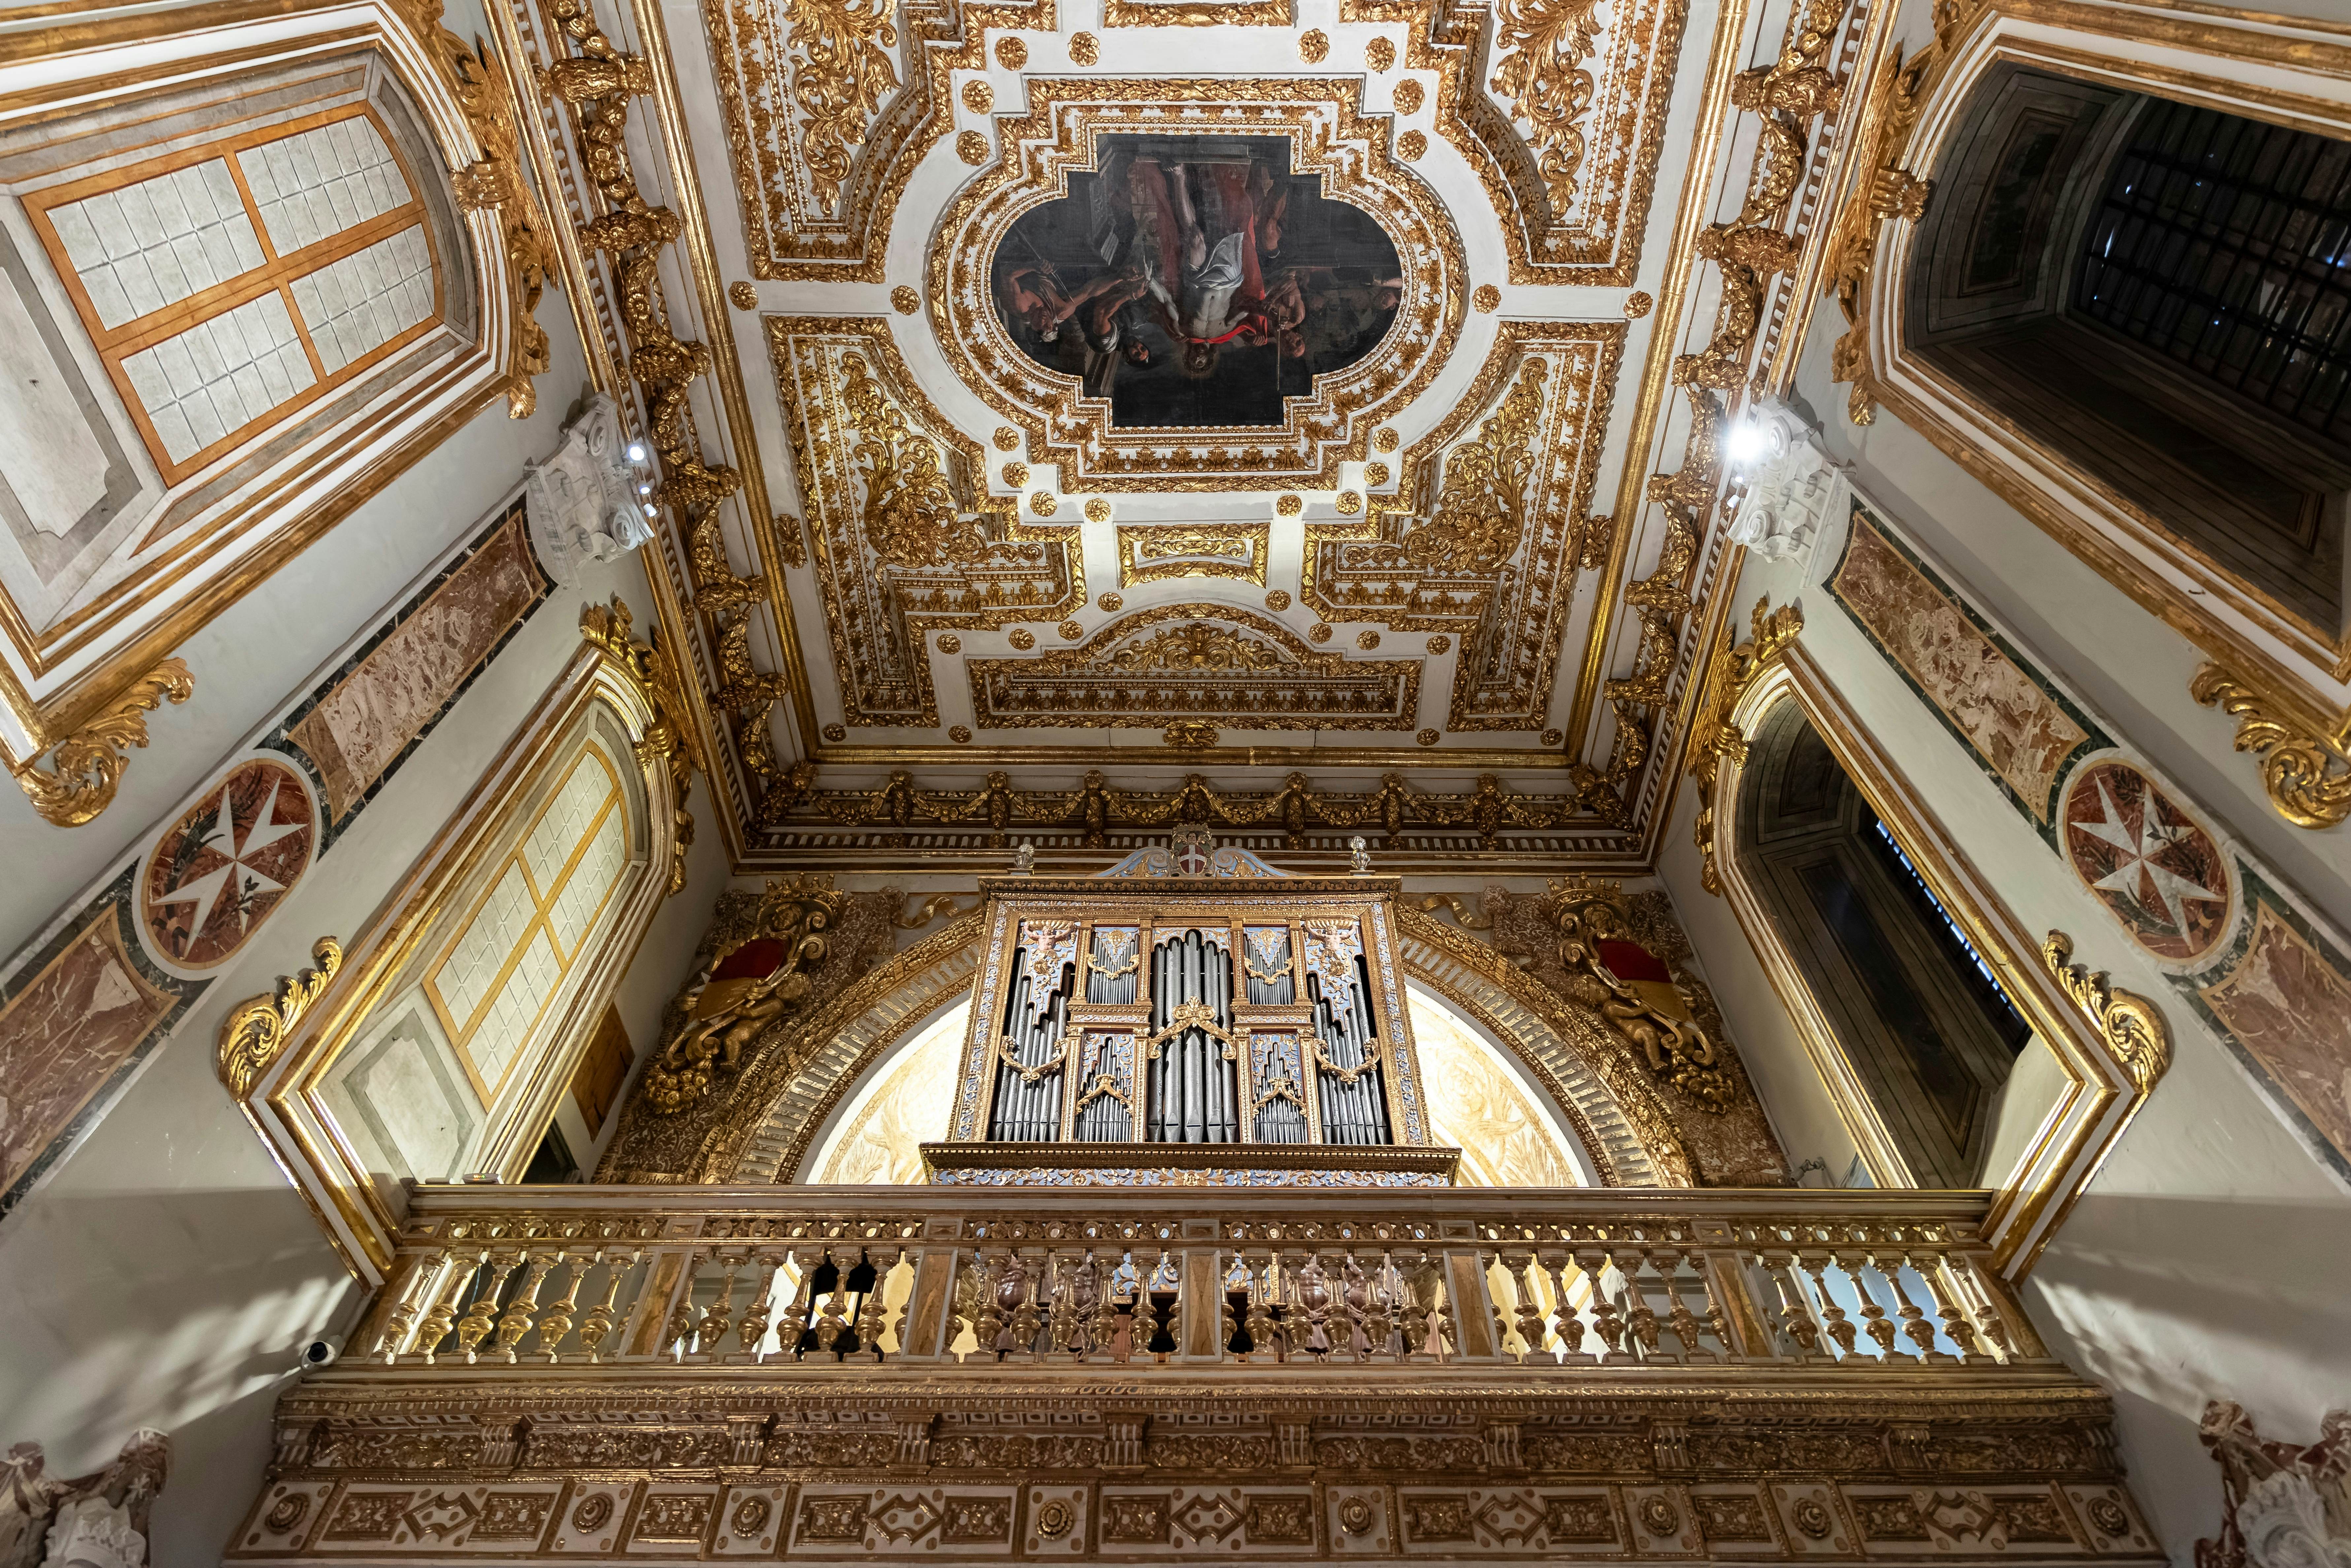
<path id="1" fill-rule="evenodd" d="M 1980 1185 L 2031 1025 L 1794 701 L 1749 741 L 1735 856 L 1911 1175 Z"/>

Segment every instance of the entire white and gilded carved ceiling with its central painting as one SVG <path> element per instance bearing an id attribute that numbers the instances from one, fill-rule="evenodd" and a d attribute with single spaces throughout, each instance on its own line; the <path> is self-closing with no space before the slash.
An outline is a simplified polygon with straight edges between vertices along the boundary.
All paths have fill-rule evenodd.
<path id="1" fill-rule="evenodd" d="M 1784 14 L 491 12 L 557 282 L 658 449 L 738 865 L 1190 818 L 1653 853 L 1723 564 L 1674 364 Z"/>

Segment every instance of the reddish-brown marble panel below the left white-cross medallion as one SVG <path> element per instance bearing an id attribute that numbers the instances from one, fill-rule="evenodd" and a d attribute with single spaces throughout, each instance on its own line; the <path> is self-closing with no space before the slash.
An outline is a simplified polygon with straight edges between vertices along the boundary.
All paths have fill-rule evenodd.
<path id="1" fill-rule="evenodd" d="M 176 1001 L 132 964 L 122 912 L 120 903 L 99 910 L 0 1009 L 0 1192 L 16 1185 Z"/>

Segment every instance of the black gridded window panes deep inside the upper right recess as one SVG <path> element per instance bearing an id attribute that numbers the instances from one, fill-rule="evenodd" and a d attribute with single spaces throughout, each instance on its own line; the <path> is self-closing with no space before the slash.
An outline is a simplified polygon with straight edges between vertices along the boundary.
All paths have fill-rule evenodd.
<path id="1" fill-rule="evenodd" d="M 2090 223 L 2074 308 L 2342 435 L 2351 143 L 2149 103 Z"/>

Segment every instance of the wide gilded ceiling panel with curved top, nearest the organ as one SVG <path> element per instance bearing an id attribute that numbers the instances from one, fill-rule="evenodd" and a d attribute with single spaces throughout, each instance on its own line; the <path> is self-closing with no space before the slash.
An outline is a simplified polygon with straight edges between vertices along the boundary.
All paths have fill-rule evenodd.
<path id="1" fill-rule="evenodd" d="M 1260 729 L 1411 729 L 1420 661 L 1321 654 L 1230 604 L 1161 604 L 1074 649 L 973 658 L 971 708 L 983 729 L 1159 729 L 1239 712 Z"/>

